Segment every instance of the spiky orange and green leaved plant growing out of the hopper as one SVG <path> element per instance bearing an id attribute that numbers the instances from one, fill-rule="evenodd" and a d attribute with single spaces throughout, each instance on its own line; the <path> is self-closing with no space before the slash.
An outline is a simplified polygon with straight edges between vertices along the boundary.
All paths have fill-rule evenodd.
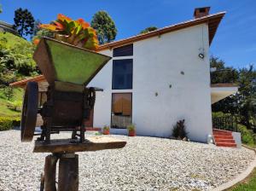
<path id="1" fill-rule="evenodd" d="M 57 40 L 71 43 L 84 49 L 96 50 L 98 48 L 96 31 L 83 19 L 72 20 L 63 14 L 58 14 L 57 20 L 52 21 L 50 24 L 42 24 L 39 27 L 53 32 Z M 35 38 L 33 43 L 39 43 L 39 39 Z"/>

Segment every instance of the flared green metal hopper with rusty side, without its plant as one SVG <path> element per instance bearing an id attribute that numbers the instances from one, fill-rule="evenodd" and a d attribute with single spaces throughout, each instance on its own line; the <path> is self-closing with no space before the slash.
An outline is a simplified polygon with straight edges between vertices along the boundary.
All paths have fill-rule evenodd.
<path id="1" fill-rule="evenodd" d="M 49 84 L 67 82 L 87 85 L 111 57 L 51 38 L 43 38 L 33 59 Z"/>

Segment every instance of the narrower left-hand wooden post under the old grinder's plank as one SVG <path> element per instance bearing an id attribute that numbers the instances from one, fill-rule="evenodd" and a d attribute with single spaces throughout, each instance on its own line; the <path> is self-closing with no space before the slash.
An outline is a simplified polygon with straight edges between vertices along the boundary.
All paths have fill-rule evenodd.
<path id="1" fill-rule="evenodd" d="M 44 189 L 45 191 L 55 191 L 56 163 L 58 158 L 54 155 L 45 157 L 44 164 Z"/>

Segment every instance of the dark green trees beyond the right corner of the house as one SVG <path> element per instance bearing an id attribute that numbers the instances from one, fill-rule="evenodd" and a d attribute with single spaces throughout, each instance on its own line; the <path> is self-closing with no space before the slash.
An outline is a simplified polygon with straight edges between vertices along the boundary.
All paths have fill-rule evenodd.
<path id="1" fill-rule="evenodd" d="M 236 95 L 212 104 L 212 112 L 238 114 L 240 123 L 252 129 L 253 116 L 256 115 L 256 70 L 253 66 L 236 70 L 225 67 L 224 61 L 211 58 L 211 67 L 217 72 L 211 73 L 212 84 L 236 83 L 239 86 Z"/>

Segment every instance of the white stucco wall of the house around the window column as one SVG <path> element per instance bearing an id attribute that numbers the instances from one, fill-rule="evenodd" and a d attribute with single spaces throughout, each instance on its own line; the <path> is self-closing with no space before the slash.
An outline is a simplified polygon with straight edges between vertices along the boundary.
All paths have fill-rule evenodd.
<path id="1" fill-rule="evenodd" d="M 103 89 L 96 93 L 94 126 L 110 125 L 112 93 L 132 92 L 137 135 L 171 136 L 172 126 L 185 119 L 189 138 L 206 142 L 212 134 L 207 25 L 148 38 L 133 46 L 133 56 L 113 58 L 133 58 L 132 90 L 112 90 L 113 61 L 90 83 Z M 204 59 L 198 56 L 202 49 Z M 112 50 L 101 53 L 112 56 Z"/>

